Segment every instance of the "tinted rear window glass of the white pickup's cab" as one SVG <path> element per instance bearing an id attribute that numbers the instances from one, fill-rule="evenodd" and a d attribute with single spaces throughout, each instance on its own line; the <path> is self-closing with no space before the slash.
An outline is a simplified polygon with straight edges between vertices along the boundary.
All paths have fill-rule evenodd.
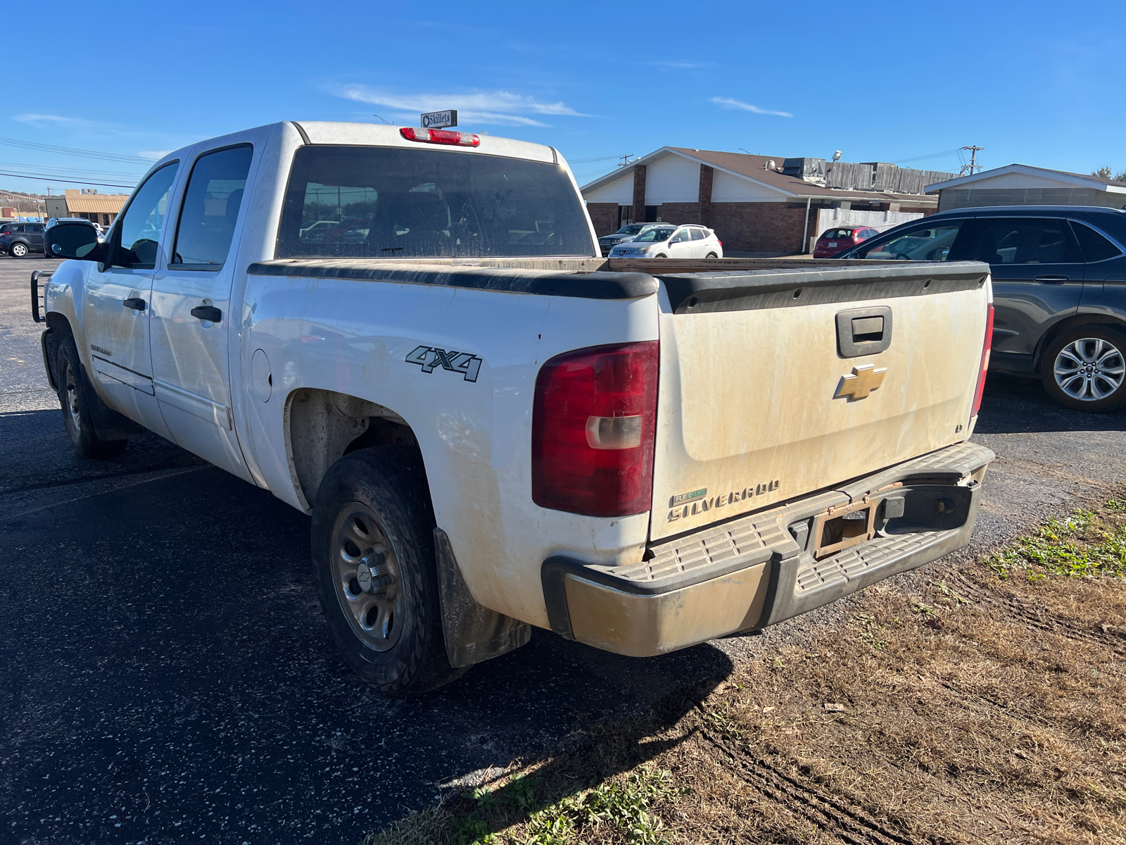
<path id="1" fill-rule="evenodd" d="M 316 221 L 336 225 L 311 226 Z M 286 189 L 278 258 L 593 255 L 565 171 L 500 155 L 303 146 Z"/>

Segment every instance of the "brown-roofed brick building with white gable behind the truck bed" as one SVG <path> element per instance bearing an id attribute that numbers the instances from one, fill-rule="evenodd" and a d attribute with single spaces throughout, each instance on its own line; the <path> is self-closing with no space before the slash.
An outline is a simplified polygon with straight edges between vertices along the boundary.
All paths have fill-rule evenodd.
<path id="1" fill-rule="evenodd" d="M 923 194 L 923 185 L 948 176 L 875 162 L 826 164 L 663 146 L 595 179 L 582 195 L 599 235 L 633 221 L 700 223 L 714 229 L 729 251 L 804 252 L 820 234 L 820 212 L 882 212 L 894 225 L 902 220 L 892 222 L 892 214 L 938 211 L 938 197 Z M 857 189 L 858 184 L 890 189 Z"/>

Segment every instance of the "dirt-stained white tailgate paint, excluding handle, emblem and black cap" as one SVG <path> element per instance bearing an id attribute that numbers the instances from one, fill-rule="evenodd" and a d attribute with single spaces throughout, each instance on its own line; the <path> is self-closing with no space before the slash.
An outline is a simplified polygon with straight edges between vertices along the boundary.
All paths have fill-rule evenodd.
<path id="1" fill-rule="evenodd" d="M 651 539 L 966 439 L 986 296 L 983 286 L 753 311 L 665 310 Z M 892 308 L 891 348 L 840 358 L 835 314 L 873 305 Z M 882 386 L 866 399 L 833 399 L 841 377 L 864 364 L 887 367 Z M 767 489 L 742 498 L 760 486 Z M 695 514 L 672 509 L 672 497 L 704 488 Z"/>

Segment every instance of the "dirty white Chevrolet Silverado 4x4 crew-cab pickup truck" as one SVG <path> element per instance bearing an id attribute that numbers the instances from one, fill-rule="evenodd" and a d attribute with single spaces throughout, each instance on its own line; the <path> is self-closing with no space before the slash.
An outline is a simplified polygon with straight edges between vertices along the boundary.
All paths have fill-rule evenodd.
<path id="1" fill-rule="evenodd" d="M 52 228 L 77 260 L 33 290 L 74 451 L 155 432 L 312 515 L 388 693 L 531 625 L 759 629 L 976 519 L 982 264 L 607 260 L 553 148 L 340 123 L 170 153 L 91 232 Z"/>

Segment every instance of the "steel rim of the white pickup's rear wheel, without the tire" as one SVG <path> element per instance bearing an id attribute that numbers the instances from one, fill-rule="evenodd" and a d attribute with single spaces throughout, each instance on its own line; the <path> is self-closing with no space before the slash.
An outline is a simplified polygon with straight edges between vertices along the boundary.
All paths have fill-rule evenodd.
<path id="1" fill-rule="evenodd" d="M 372 508 L 350 501 L 332 526 L 332 582 L 352 633 L 387 651 L 403 630 L 399 555 Z"/>

